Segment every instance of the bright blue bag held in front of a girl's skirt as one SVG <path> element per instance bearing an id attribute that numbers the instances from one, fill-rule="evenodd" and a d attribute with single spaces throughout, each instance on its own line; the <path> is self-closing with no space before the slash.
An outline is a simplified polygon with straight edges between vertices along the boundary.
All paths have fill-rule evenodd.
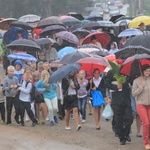
<path id="1" fill-rule="evenodd" d="M 105 104 L 105 101 L 104 101 L 101 91 L 92 90 L 91 95 L 92 95 L 93 107 L 100 107 Z"/>

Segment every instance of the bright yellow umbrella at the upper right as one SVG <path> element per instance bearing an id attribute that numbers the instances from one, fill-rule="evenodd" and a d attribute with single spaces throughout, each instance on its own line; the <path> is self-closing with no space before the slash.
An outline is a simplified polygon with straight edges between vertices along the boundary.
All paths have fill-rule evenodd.
<path id="1" fill-rule="evenodd" d="M 138 16 L 134 18 L 130 24 L 129 28 L 138 28 L 139 24 L 143 22 L 145 25 L 150 25 L 150 17 L 149 16 Z"/>

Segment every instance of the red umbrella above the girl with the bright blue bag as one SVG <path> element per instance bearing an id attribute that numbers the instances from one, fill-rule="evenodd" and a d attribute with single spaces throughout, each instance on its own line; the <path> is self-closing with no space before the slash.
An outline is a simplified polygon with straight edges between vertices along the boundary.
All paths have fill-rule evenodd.
<path id="1" fill-rule="evenodd" d="M 105 58 L 100 57 L 86 57 L 77 61 L 81 64 L 80 70 L 85 70 L 86 72 L 93 72 L 94 69 L 99 69 L 100 72 L 103 72 L 104 69 L 108 66 L 108 62 Z"/>

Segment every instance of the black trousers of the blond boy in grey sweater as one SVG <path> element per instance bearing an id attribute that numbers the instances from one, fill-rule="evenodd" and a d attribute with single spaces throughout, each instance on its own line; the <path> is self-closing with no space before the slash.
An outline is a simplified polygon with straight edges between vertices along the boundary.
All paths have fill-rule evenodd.
<path id="1" fill-rule="evenodd" d="M 12 107 L 15 108 L 15 120 L 19 120 L 20 116 L 20 101 L 18 96 L 16 97 L 6 97 L 6 109 L 7 109 L 7 124 L 11 124 L 11 113 Z"/>

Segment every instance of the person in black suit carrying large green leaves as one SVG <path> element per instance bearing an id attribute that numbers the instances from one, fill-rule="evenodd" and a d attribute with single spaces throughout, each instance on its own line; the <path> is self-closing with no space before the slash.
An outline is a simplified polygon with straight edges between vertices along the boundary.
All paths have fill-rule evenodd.
<path id="1" fill-rule="evenodd" d="M 105 84 L 112 93 L 113 129 L 120 139 L 120 144 L 125 145 L 126 141 L 131 141 L 129 132 L 133 122 L 129 84 L 127 81 L 117 84 L 112 70 L 108 72 Z"/>

